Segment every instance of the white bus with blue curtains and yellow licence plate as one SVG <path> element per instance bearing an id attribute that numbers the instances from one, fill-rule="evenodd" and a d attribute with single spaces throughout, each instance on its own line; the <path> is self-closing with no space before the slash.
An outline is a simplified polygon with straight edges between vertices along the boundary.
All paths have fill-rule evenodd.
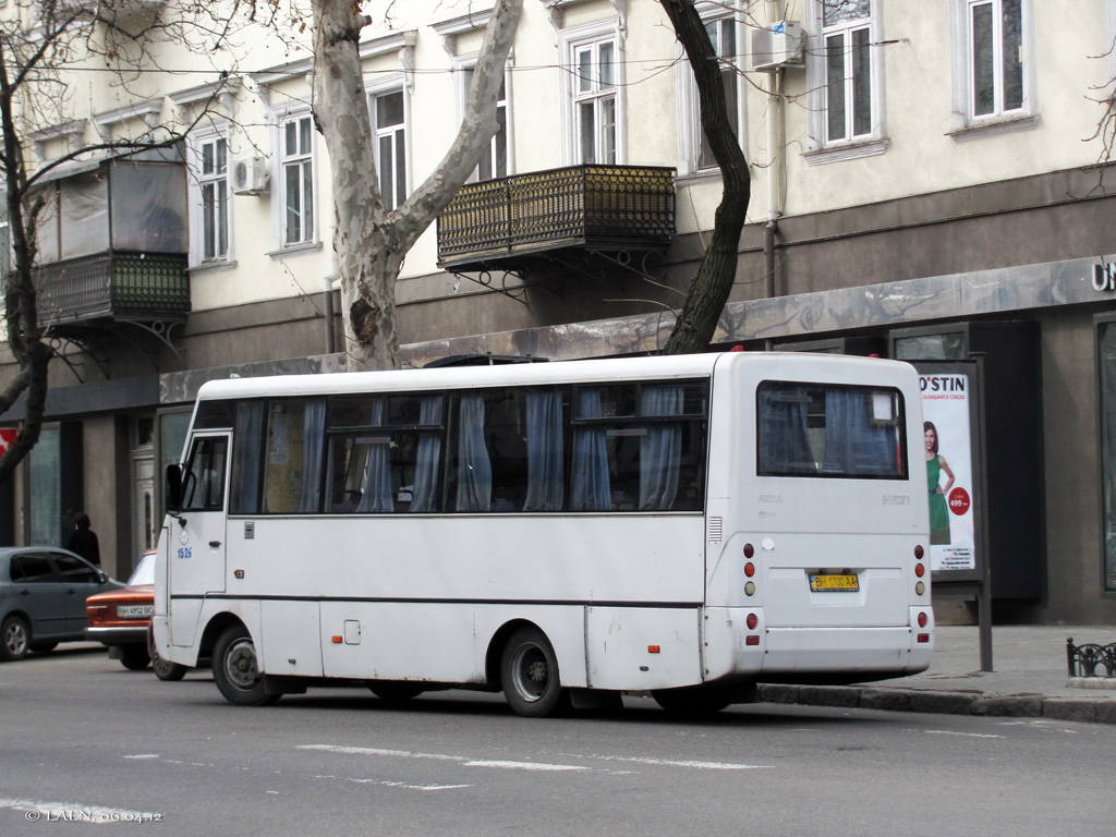
<path id="1" fill-rule="evenodd" d="M 907 364 L 811 354 L 211 382 L 155 647 L 237 704 L 358 681 L 533 716 L 921 672 L 920 404 Z"/>

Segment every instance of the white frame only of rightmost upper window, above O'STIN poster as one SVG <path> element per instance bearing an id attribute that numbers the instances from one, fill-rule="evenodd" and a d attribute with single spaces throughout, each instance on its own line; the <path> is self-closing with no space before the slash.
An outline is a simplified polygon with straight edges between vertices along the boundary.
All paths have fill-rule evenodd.
<path id="1" fill-rule="evenodd" d="M 963 141 L 973 136 L 985 136 L 1009 131 L 1023 131 L 1038 125 L 1038 105 L 1035 90 L 1035 22 L 1032 0 L 1019 0 L 1021 17 L 1022 52 L 1022 104 L 1018 108 L 1004 109 L 1002 104 L 1002 61 L 999 60 L 1002 44 L 1002 27 L 997 26 L 993 47 L 993 69 L 995 75 L 995 107 L 991 114 L 974 113 L 974 57 L 972 49 L 972 10 L 975 6 L 990 3 L 992 20 L 1002 20 L 1003 0 L 951 0 L 950 26 L 953 60 L 953 112 L 950 114 L 950 134 Z"/>

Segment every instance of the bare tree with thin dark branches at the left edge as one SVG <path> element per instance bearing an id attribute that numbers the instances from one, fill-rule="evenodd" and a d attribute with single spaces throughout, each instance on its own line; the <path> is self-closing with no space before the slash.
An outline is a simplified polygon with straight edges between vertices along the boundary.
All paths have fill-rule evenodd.
<path id="1" fill-rule="evenodd" d="M 160 69 L 160 45 L 174 44 L 213 60 L 234 21 L 258 20 L 272 4 L 233 0 L 218 6 L 189 3 L 161 13 L 127 0 L 18 0 L 4 10 L 0 20 L 0 190 L 10 242 L 0 242 L 0 248 L 10 257 L 3 277 L 4 325 L 16 374 L 0 386 L 0 415 L 21 395 L 26 395 L 27 411 L 16 442 L 0 456 L 0 481 L 10 479 L 35 446 L 46 408 L 52 349 L 49 326 L 39 314 L 36 231 L 46 205 L 47 175 L 75 160 L 112 160 L 176 145 L 190 126 L 165 124 L 112 142 L 78 140 L 44 163 L 35 162 L 33 140 L 44 131 L 87 116 L 80 103 L 75 106 L 75 89 L 68 80 L 75 67 L 114 74 L 127 97 L 134 94 L 133 86 L 142 89 L 144 71 Z"/>

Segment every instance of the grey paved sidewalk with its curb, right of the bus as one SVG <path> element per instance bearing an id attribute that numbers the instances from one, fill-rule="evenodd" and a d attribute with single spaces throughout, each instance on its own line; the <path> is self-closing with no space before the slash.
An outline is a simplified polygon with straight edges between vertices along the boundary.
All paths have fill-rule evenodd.
<path id="1" fill-rule="evenodd" d="M 1075 645 L 1116 643 L 1114 626 L 993 626 L 992 672 L 979 671 L 975 625 L 940 625 L 934 633 L 934 662 L 922 674 L 852 686 L 762 685 L 760 700 L 1116 723 L 1116 677 L 1071 679 L 1066 663 L 1067 638 Z"/>

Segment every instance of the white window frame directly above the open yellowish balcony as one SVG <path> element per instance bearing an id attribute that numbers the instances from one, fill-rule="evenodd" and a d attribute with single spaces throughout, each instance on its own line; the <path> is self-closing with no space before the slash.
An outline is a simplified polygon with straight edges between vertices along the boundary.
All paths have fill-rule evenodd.
<path id="1" fill-rule="evenodd" d="M 599 50 L 605 44 L 610 44 L 613 48 L 613 79 L 609 87 L 603 87 L 598 76 Z M 614 160 L 609 165 L 623 165 L 626 160 L 626 131 L 625 114 L 627 110 L 624 89 L 624 38 L 620 32 L 618 19 L 606 20 L 600 23 L 566 29 L 558 35 L 558 54 L 561 60 L 560 92 L 562 105 L 562 160 L 565 165 L 580 165 L 580 105 L 593 103 L 595 113 L 595 142 L 594 153 L 599 154 L 604 135 L 602 134 L 602 119 L 599 118 L 599 103 L 612 98 L 614 102 L 613 118 L 613 145 Z M 581 84 L 578 59 L 580 55 L 591 50 L 593 70 L 586 84 Z M 605 164 L 605 161 L 599 161 Z"/>

